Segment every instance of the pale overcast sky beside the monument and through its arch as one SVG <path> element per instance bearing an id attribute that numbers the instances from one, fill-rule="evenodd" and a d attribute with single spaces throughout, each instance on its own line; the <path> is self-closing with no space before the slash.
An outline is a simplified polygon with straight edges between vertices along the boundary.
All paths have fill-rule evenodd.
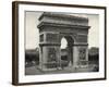
<path id="1" fill-rule="evenodd" d="M 39 44 L 39 32 L 37 28 L 38 17 L 43 12 L 26 12 L 25 13 L 25 47 L 26 49 L 35 49 Z M 83 15 L 83 14 L 82 14 Z M 98 47 L 99 46 L 99 15 L 89 15 L 84 14 L 88 17 L 88 25 L 90 26 L 88 33 L 88 47 Z M 61 48 L 66 46 L 65 39 L 61 41 Z"/>

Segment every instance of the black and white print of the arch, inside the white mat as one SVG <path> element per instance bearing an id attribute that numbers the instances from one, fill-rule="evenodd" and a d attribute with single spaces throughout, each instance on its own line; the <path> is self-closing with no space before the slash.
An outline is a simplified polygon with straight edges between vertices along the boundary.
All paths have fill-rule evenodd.
<path id="1" fill-rule="evenodd" d="M 25 75 L 99 72 L 99 15 L 25 12 Z"/>

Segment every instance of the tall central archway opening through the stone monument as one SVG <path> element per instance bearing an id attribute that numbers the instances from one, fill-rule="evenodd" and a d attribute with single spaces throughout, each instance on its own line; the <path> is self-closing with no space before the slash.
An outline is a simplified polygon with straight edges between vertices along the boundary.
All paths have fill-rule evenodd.
<path id="1" fill-rule="evenodd" d="M 61 63 L 73 65 L 73 45 L 74 40 L 71 36 L 62 36 L 61 38 Z"/>

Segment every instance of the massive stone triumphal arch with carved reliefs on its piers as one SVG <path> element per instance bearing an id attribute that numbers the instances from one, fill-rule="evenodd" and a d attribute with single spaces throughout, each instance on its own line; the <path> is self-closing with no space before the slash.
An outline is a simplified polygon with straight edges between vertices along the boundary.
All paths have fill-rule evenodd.
<path id="1" fill-rule="evenodd" d="M 39 17 L 39 67 L 43 71 L 59 70 L 61 39 L 68 40 L 68 63 L 73 67 L 88 61 L 88 18 L 60 13 L 44 12 Z M 82 62 L 81 62 L 82 61 Z M 68 65 L 69 66 L 69 65 Z"/>

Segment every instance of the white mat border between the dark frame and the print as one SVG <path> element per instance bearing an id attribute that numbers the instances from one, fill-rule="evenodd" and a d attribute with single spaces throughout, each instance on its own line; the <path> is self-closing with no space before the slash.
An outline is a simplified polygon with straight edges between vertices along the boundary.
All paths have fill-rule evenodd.
<path id="1" fill-rule="evenodd" d="M 24 12 L 25 11 L 49 11 L 49 12 L 68 12 L 68 13 L 88 13 L 99 14 L 99 72 L 98 73 L 72 73 L 57 75 L 33 75 L 25 76 L 25 52 L 24 52 Z M 36 83 L 49 80 L 69 80 L 85 78 L 102 78 L 105 77 L 105 11 L 99 9 L 85 8 L 65 8 L 50 5 L 31 5 L 19 4 L 19 83 Z"/>

